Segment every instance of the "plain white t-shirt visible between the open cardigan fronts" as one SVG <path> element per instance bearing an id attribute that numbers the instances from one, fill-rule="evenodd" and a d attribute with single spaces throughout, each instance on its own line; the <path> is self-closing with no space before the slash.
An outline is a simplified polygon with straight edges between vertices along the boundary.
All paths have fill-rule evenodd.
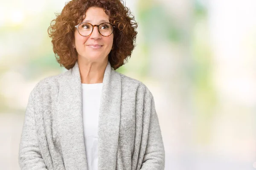
<path id="1" fill-rule="evenodd" d="M 81 85 L 87 166 L 88 170 L 98 170 L 98 120 L 102 83 Z"/>

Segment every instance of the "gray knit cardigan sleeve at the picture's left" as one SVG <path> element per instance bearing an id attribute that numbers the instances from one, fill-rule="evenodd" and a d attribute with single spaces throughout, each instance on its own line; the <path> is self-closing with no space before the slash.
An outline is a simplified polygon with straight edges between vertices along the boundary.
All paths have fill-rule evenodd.
<path id="1" fill-rule="evenodd" d="M 21 170 L 47 170 L 42 159 L 35 128 L 33 91 L 29 94 L 19 148 Z"/>

